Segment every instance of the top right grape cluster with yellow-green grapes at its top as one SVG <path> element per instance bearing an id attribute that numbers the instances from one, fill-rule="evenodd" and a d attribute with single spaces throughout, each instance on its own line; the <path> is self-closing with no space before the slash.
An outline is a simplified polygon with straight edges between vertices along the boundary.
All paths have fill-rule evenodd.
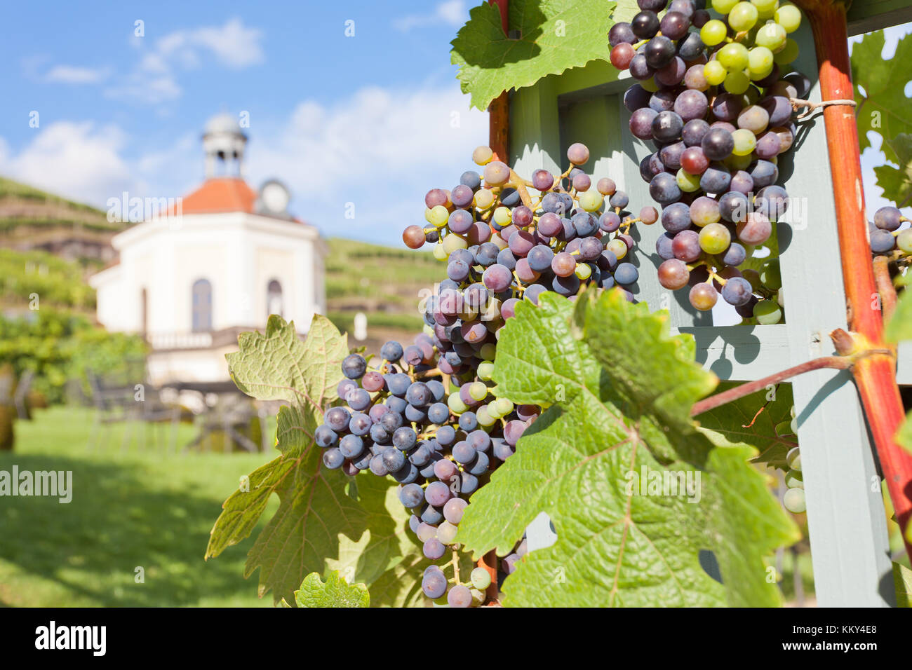
<path id="1" fill-rule="evenodd" d="M 794 141 L 792 99 L 810 88 L 785 69 L 798 55 L 788 35 L 801 12 L 778 0 L 712 0 L 721 18 L 703 0 L 637 4 L 630 23 L 611 28 L 610 59 L 638 81 L 624 96 L 630 131 L 655 145 L 640 174 L 663 208 L 659 283 L 689 286 L 696 309 L 721 294 L 743 318 L 778 323 L 781 285 L 762 281 L 778 269 L 738 266 L 788 208 L 777 164 Z"/>

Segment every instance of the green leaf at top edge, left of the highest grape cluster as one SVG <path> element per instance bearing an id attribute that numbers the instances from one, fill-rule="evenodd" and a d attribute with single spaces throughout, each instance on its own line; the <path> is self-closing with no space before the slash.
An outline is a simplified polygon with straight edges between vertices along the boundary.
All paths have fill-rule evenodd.
<path id="1" fill-rule="evenodd" d="M 471 93 L 472 105 L 483 111 L 505 90 L 607 60 L 608 30 L 637 11 L 634 0 L 511 0 L 510 30 L 519 31 L 511 39 L 497 6 L 482 3 L 451 42 L 451 62 L 460 67 L 462 92 Z"/>

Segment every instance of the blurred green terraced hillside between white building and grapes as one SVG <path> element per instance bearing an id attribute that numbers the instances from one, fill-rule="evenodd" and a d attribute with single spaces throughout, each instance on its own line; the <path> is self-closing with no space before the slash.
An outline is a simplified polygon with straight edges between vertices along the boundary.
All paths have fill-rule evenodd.
<path id="1" fill-rule="evenodd" d="M 327 241 L 327 316 L 340 330 L 352 332 L 355 314 L 368 317 L 368 339 L 351 340 L 378 351 L 388 339 L 411 342 L 423 325 L 420 291 L 444 276 L 428 252 L 385 247 L 333 237 Z"/>

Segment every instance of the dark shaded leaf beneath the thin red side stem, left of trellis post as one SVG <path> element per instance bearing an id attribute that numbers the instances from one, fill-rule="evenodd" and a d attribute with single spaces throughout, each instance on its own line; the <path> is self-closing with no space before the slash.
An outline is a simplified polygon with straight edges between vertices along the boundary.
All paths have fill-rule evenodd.
<path id="1" fill-rule="evenodd" d="M 738 386 L 735 382 L 726 382 L 716 392 L 735 386 Z M 776 426 L 792 421 L 792 385 L 778 385 L 775 400 L 769 402 L 766 399 L 767 393 L 764 388 L 750 396 L 710 409 L 697 417 L 697 423 L 703 428 L 721 433 L 731 442 L 746 442 L 757 448 L 760 453 L 751 460 L 752 463 L 763 463 L 770 468 L 784 470 L 788 469 L 785 454 L 797 446 L 798 438 L 791 434 L 777 434 Z"/>

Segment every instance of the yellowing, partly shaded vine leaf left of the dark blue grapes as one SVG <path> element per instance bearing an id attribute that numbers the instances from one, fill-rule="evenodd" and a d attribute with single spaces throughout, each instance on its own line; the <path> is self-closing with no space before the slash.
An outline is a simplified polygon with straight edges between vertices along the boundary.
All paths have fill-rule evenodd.
<path id="1" fill-rule="evenodd" d="M 239 344 L 240 351 L 228 355 L 238 386 L 254 397 L 292 404 L 278 414 L 281 456 L 254 470 L 225 500 L 205 557 L 250 535 L 275 493 L 279 508 L 244 566 L 245 577 L 260 569 L 261 596 L 272 590 L 276 602 L 283 597 L 294 602 L 292 593 L 309 572 L 341 570 L 369 585 L 413 545 L 405 511 L 398 501 L 390 504 L 394 482 L 365 476 L 352 487 L 353 480 L 341 471 L 321 468 L 322 449 L 313 435 L 322 421 L 321 407 L 336 397 L 346 336 L 316 315 L 301 343 L 293 324 L 272 316 L 265 335 L 244 334 Z"/>

